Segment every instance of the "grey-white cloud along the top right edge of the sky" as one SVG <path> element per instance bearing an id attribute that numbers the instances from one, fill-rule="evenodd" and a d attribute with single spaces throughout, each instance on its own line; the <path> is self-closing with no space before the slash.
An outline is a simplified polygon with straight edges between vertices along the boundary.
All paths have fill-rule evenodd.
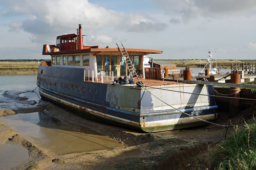
<path id="1" fill-rule="evenodd" d="M 228 16 L 255 15 L 256 1 L 253 0 L 152 0 L 154 4 L 172 16 L 179 16 L 183 22 L 193 18 L 223 18 Z"/>

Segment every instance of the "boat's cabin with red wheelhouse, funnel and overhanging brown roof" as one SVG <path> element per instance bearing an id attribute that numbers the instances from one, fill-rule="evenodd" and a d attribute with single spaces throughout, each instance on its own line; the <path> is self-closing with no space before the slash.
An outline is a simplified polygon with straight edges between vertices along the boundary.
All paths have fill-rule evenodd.
<path id="1" fill-rule="evenodd" d="M 158 50 L 136 48 L 126 48 L 126 51 L 141 77 L 143 77 L 144 56 L 162 53 Z M 51 66 L 54 67 L 76 67 L 94 72 L 109 71 L 113 76 L 129 76 L 129 70 L 119 48 L 84 46 L 80 25 L 77 34 L 58 36 L 56 45 L 45 44 L 42 55 L 51 55 Z"/>

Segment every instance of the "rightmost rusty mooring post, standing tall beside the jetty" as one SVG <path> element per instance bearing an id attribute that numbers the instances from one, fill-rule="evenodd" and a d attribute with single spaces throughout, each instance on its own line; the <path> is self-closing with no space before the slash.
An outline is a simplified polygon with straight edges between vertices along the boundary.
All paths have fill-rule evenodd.
<path id="1" fill-rule="evenodd" d="M 230 76 L 230 83 L 241 84 L 240 74 L 232 73 Z M 233 98 L 240 98 L 240 88 L 239 87 L 231 87 L 229 90 L 229 94 Z M 239 99 L 230 99 L 229 100 L 229 117 L 236 116 L 239 113 Z"/>

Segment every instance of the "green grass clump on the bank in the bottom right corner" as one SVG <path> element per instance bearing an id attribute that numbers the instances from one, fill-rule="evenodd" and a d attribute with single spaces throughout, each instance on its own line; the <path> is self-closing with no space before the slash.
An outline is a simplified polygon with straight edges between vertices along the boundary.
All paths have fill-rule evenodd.
<path id="1" fill-rule="evenodd" d="M 234 126 L 230 137 L 213 154 L 217 169 L 256 169 L 256 119 Z"/>

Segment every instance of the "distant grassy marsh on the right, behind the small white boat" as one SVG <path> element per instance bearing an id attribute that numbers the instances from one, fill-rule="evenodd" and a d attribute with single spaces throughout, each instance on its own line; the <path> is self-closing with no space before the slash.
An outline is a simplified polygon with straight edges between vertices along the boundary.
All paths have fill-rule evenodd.
<path id="1" fill-rule="evenodd" d="M 206 64 L 206 60 L 155 60 L 155 61 L 167 61 L 176 64 L 177 67 L 201 67 Z M 256 62 L 256 60 L 217 60 L 219 68 L 231 68 L 232 63 L 243 63 L 243 62 Z M 216 62 L 214 62 L 216 65 Z"/>

